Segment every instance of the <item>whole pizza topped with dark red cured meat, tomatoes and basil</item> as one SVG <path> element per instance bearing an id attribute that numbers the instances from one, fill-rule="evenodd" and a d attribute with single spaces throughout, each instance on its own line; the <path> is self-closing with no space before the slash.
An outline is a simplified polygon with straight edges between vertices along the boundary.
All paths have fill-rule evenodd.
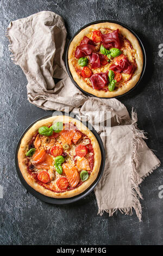
<path id="1" fill-rule="evenodd" d="M 143 54 L 139 41 L 128 29 L 102 22 L 80 31 L 68 48 L 73 80 L 97 97 L 122 95 L 139 81 Z"/>

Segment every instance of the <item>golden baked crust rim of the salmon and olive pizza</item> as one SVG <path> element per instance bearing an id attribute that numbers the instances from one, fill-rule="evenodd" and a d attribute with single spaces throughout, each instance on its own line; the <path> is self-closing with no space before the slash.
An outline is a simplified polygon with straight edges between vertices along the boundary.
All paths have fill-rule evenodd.
<path id="1" fill-rule="evenodd" d="M 61 193 L 53 192 L 39 185 L 35 181 L 35 179 L 28 173 L 27 166 L 23 162 L 24 157 L 26 157 L 26 149 L 28 147 L 28 144 L 32 139 L 32 137 L 35 135 L 36 131 L 41 126 L 51 125 L 53 121 L 63 121 L 64 123 L 67 123 L 67 122 L 74 123 L 80 131 L 85 133 L 85 135 L 87 135 L 91 139 L 92 147 L 94 150 L 94 167 L 91 174 L 89 175 L 89 179 L 84 181 L 83 184 L 80 185 L 79 187 L 74 188 L 73 190 L 65 191 Z M 87 188 L 90 187 L 93 181 L 96 180 L 99 172 L 99 168 L 101 166 L 101 150 L 99 148 L 99 144 L 97 142 L 95 135 L 93 135 L 93 133 L 89 129 L 87 129 L 87 127 L 84 124 L 82 124 L 79 120 L 68 117 L 66 115 L 64 116 L 58 115 L 55 117 L 49 117 L 49 118 L 37 121 L 23 136 L 21 140 L 20 148 L 18 150 L 17 157 L 18 157 L 18 166 L 21 170 L 24 180 L 26 180 L 28 185 L 34 188 L 34 190 L 36 190 L 37 192 L 40 192 L 45 196 L 53 197 L 53 198 L 69 198 L 69 197 L 77 196 L 77 194 L 84 192 Z"/>

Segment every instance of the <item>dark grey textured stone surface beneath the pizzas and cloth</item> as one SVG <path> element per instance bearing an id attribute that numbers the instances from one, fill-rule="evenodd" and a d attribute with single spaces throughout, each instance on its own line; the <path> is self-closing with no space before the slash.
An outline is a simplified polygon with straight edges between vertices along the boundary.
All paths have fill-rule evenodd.
<path id="1" fill-rule="evenodd" d="M 159 57 L 162 15 L 161 1 L 13 1 L 0 3 L 1 72 L 1 175 L 4 198 L 0 198 L 0 243 L 3 245 L 162 245 L 162 168 L 142 182 L 142 221 L 135 213 L 114 217 L 97 215 L 93 193 L 84 200 L 65 206 L 48 205 L 29 194 L 17 177 L 14 151 L 18 138 L 35 119 L 50 112 L 27 100 L 27 80 L 9 58 L 5 30 L 9 22 L 42 10 L 64 17 L 68 38 L 96 20 L 116 20 L 130 26 L 142 39 L 147 51 L 147 71 L 133 93 L 120 99 L 128 111 L 136 109 L 140 129 L 148 132 L 147 144 L 162 160 L 162 58 Z"/>

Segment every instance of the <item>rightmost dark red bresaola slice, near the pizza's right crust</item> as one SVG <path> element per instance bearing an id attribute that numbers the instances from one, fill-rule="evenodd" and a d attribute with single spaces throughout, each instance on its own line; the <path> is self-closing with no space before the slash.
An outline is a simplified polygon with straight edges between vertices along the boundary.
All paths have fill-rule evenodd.
<path id="1" fill-rule="evenodd" d="M 124 72 L 130 75 L 133 72 L 133 65 L 129 62 L 127 57 L 120 60 L 119 64 L 112 64 L 109 69 L 116 71 L 116 72 Z"/>

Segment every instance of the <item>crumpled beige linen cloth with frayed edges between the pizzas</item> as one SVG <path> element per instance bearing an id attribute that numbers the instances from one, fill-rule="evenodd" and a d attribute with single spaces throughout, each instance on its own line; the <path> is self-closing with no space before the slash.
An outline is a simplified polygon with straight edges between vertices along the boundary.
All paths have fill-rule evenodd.
<path id="1" fill-rule="evenodd" d="M 27 77 L 28 100 L 45 110 L 73 111 L 89 120 L 105 148 L 104 173 L 95 188 L 98 213 L 112 216 L 119 209 L 129 215 L 134 208 L 141 220 L 139 184 L 160 161 L 143 141 L 135 112 L 130 118 L 120 101 L 87 97 L 72 84 L 62 60 L 66 35 L 64 21 L 51 11 L 10 22 L 9 50 Z M 53 78 L 60 81 L 55 84 Z M 111 127 L 102 125 L 108 120 Z"/>

